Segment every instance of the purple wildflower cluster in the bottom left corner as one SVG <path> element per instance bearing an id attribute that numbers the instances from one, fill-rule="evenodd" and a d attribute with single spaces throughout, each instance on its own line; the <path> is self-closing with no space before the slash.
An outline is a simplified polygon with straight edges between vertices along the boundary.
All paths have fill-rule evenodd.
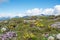
<path id="1" fill-rule="evenodd" d="M 0 35 L 0 40 L 8 40 L 16 36 L 17 34 L 15 32 L 6 32 L 5 34 Z"/>

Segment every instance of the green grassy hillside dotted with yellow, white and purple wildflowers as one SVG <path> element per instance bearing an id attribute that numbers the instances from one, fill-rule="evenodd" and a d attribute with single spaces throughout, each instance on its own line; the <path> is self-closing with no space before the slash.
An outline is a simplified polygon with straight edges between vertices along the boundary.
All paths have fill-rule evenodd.
<path id="1" fill-rule="evenodd" d="M 15 34 L 6 38 L 3 34 L 8 32 Z M 59 33 L 60 15 L 26 16 L 0 21 L 0 39 L 3 36 L 6 40 L 48 40 L 49 36 L 55 37 Z"/>

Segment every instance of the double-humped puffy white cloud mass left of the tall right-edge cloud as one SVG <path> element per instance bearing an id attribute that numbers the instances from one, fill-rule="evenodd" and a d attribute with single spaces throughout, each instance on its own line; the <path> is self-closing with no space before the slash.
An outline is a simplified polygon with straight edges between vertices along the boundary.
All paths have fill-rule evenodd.
<path id="1" fill-rule="evenodd" d="M 52 8 L 47 8 L 47 9 L 40 9 L 40 8 L 34 8 L 31 10 L 27 10 L 28 15 L 40 15 L 40 14 L 45 14 L 45 15 L 52 15 L 54 12 L 54 9 Z"/>

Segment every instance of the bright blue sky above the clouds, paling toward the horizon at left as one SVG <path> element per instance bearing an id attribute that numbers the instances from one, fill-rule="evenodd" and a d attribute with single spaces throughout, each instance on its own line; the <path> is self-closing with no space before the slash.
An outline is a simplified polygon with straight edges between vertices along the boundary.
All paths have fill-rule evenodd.
<path id="1" fill-rule="evenodd" d="M 60 8 L 60 0 L 3 0 L 0 1 L 0 16 L 16 16 L 18 14 L 23 16 L 27 11 L 52 10 L 55 6 Z"/>

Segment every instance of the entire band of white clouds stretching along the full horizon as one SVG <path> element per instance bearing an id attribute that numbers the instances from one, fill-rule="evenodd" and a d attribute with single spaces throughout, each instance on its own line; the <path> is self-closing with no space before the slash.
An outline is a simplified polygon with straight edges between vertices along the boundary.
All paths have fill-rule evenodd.
<path id="1" fill-rule="evenodd" d="M 0 17 L 14 17 L 14 16 L 32 16 L 32 15 L 40 15 L 40 14 L 45 14 L 45 15 L 60 15 L 60 5 L 56 5 L 53 8 L 33 8 L 25 11 L 24 13 L 0 13 Z"/>

